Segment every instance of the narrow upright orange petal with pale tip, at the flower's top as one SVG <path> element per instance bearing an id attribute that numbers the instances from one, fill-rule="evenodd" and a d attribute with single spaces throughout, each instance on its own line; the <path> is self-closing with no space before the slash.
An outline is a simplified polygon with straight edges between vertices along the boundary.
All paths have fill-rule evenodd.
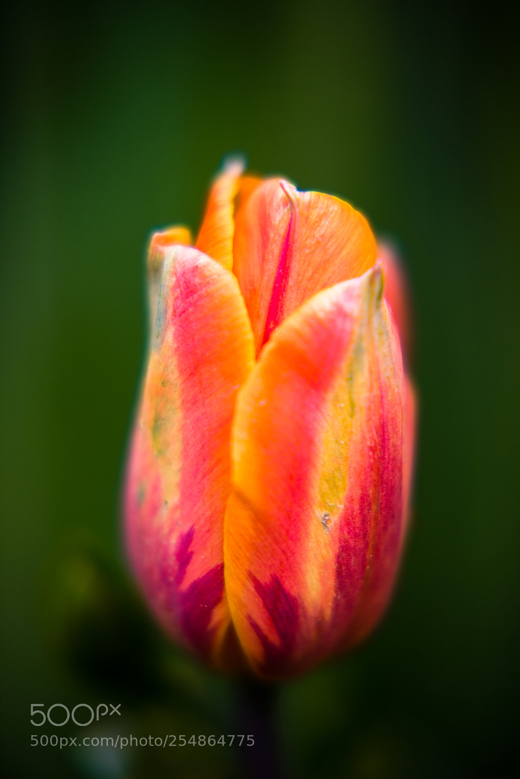
<path id="1" fill-rule="evenodd" d="M 206 214 L 195 246 L 227 270 L 233 267 L 234 197 L 244 165 L 230 160 L 209 191 Z"/>

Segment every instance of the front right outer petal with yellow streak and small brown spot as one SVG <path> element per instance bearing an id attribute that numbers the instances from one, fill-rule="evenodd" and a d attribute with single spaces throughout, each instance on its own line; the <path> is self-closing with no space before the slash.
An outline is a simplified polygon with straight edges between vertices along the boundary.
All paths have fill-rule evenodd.
<path id="1" fill-rule="evenodd" d="M 237 399 L 226 590 L 265 677 L 350 643 L 388 600 L 402 523 L 403 378 L 381 268 L 322 291 L 272 336 Z M 365 593 L 371 593 L 365 605 Z"/>

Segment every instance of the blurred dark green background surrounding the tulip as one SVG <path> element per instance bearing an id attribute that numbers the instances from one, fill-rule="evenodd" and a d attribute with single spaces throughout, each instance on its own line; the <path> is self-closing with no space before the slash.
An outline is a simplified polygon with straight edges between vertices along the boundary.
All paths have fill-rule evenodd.
<path id="1" fill-rule="evenodd" d="M 415 299 L 420 453 L 399 588 L 357 654 L 283 689 L 288 775 L 518 775 L 512 5 L 5 10 L 4 775 L 241 776 L 236 750 L 105 749 L 80 760 L 29 746 L 31 733 L 54 732 L 30 725 L 34 702 L 122 701 L 114 733 L 233 732 L 233 685 L 170 649 L 135 598 L 118 495 L 147 236 L 172 222 L 196 228 L 209 179 L 234 150 L 255 171 L 360 208 L 398 242 Z"/>

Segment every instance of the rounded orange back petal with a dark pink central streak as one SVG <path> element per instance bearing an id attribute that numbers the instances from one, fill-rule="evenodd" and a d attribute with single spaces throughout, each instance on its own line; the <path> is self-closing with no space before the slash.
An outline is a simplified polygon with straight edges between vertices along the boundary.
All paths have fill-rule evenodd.
<path id="1" fill-rule="evenodd" d="M 259 185 L 237 210 L 233 266 L 257 354 L 304 301 L 360 276 L 376 255 L 367 221 L 343 200 L 274 179 Z"/>

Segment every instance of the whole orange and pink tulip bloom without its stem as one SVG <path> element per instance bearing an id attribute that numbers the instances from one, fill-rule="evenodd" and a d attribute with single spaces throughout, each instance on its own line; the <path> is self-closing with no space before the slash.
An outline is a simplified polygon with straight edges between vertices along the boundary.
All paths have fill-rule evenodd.
<path id="1" fill-rule="evenodd" d="M 216 668 L 304 671 L 388 603 L 414 395 L 390 310 L 404 327 L 402 278 L 383 254 L 347 203 L 236 161 L 195 246 L 185 227 L 152 238 L 128 551 L 163 626 Z"/>

